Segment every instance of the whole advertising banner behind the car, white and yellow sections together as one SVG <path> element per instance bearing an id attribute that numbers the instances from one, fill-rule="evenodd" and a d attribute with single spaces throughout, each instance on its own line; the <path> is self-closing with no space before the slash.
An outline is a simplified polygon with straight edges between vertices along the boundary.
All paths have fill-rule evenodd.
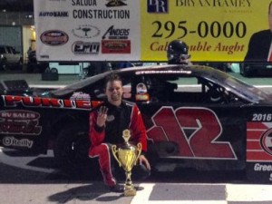
<path id="1" fill-rule="evenodd" d="M 37 58 L 161 62 L 167 61 L 170 41 L 180 39 L 189 45 L 191 61 L 242 62 L 252 34 L 269 32 L 270 2 L 34 0 Z M 265 57 L 248 55 L 249 60 L 267 61 L 271 39 L 260 41 L 268 44 L 259 48 Z"/>

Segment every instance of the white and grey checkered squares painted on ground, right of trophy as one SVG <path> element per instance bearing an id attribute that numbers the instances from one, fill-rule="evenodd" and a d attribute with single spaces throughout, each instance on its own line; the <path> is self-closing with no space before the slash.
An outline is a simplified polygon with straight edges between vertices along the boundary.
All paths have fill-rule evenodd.
<path id="1" fill-rule="evenodd" d="M 131 204 L 271 204 L 271 185 L 144 183 Z"/>

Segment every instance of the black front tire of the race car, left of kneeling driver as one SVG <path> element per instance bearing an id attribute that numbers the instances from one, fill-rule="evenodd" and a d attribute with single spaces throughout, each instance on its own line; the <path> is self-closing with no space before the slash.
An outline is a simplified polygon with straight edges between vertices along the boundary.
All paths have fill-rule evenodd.
<path id="1" fill-rule="evenodd" d="M 98 160 L 88 156 L 90 141 L 89 127 L 80 123 L 67 125 L 59 132 L 53 145 L 53 154 L 60 170 L 73 177 L 95 176 Z"/>

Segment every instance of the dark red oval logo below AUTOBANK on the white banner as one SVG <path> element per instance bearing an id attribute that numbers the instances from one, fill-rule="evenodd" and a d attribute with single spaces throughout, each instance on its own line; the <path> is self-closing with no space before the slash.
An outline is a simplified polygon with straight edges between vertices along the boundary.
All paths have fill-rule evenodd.
<path id="1" fill-rule="evenodd" d="M 68 34 L 59 30 L 45 31 L 40 37 L 43 44 L 58 46 L 66 44 L 69 40 Z"/>

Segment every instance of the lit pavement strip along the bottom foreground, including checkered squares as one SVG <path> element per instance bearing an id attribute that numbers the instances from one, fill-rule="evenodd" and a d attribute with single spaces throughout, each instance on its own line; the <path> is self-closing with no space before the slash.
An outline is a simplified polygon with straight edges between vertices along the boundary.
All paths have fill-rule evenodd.
<path id="1" fill-rule="evenodd" d="M 135 197 L 109 192 L 102 182 L 0 186 L 1 203 L 271 204 L 270 185 L 142 183 Z"/>

